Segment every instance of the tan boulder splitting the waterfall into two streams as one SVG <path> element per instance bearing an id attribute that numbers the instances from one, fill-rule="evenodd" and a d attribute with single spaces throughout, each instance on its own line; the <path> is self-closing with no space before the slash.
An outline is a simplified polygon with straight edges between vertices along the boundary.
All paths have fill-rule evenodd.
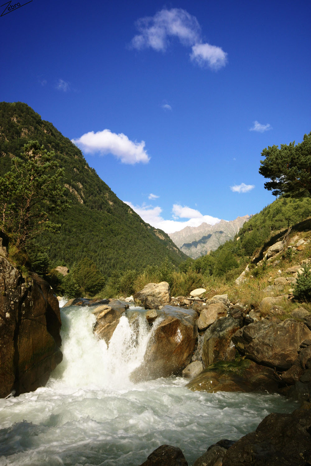
<path id="1" fill-rule="evenodd" d="M 92 311 L 96 316 L 96 322 L 94 325 L 95 335 L 105 340 L 109 345 L 111 336 L 117 324 L 119 323 L 120 317 L 125 314 L 125 310 L 129 308 L 127 303 L 119 300 L 111 301 L 109 304 L 102 304 L 96 306 Z"/>

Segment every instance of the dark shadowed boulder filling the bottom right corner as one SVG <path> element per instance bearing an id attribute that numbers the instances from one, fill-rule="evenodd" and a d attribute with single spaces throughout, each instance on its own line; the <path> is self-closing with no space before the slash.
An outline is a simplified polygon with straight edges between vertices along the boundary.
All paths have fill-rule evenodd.
<path id="1" fill-rule="evenodd" d="M 222 466 L 306 466 L 311 463 L 311 405 L 291 414 L 269 414 L 255 432 L 235 442 Z"/>

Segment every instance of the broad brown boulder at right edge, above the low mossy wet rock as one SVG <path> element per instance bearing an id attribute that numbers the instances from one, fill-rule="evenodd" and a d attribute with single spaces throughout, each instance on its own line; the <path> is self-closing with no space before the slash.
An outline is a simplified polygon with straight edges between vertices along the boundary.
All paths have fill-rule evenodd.
<path id="1" fill-rule="evenodd" d="M 275 323 L 250 323 L 232 337 L 235 347 L 256 363 L 287 370 L 297 358 L 301 343 L 311 338 L 311 330 L 303 322 L 286 319 Z"/>

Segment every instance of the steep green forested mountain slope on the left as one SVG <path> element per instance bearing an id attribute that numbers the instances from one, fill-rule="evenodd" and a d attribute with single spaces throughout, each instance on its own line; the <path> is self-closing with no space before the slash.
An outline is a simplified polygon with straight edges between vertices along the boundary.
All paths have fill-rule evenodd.
<path id="1" fill-rule="evenodd" d="M 187 258 L 166 233 L 146 224 L 118 199 L 52 123 L 42 120 L 26 103 L 0 103 L 0 176 L 29 140 L 55 151 L 65 171 L 62 183 L 72 201 L 70 209 L 53 219 L 62 224 L 60 233 L 45 232 L 36 239 L 36 247 L 46 251 L 55 266 L 71 267 L 87 256 L 110 275 L 159 264 L 166 256 L 176 265 Z"/>

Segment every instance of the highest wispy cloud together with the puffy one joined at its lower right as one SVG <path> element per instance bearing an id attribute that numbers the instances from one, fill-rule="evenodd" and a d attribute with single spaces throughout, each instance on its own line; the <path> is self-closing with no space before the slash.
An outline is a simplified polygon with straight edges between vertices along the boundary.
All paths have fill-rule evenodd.
<path id="1" fill-rule="evenodd" d="M 227 63 L 227 53 L 220 47 L 203 43 L 198 20 L 182 8 L 164 8 L 154 16 L 140 18 L 136 27 L 139 34 L 133 37 L 132 48 L 165 52 L 171 39 L 177 38 L 182 45 L 192 47 L 190 58 L 201 67 L 218 70 Z"/>

